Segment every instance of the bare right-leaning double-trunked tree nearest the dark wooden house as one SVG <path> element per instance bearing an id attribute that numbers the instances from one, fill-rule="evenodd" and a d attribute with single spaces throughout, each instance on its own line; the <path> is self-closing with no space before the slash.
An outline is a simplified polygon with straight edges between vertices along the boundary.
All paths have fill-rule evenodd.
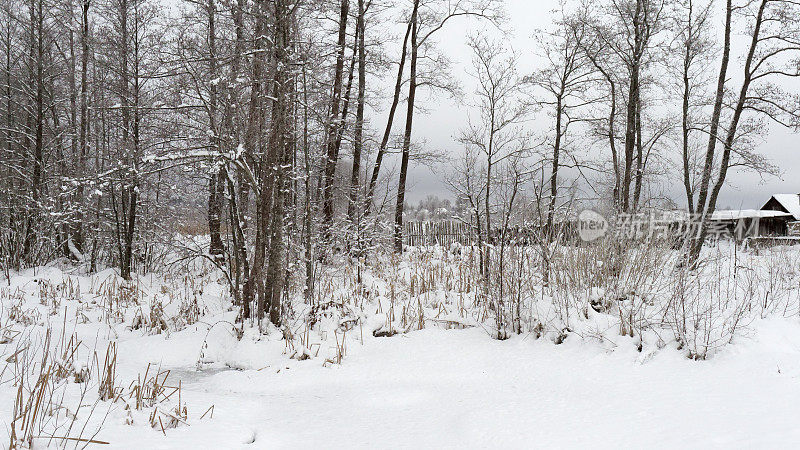
<path id="1" fill-rule="evenodd" d="M 725 3 L 723 50 L 720 59 L 717 90 L 709 120 L 708 148 L 703 174 L 698 188 L 695 210 L 702 216 L 699 236 L 692 241 L 688 261 L 695 265 L 705 238 L 709 222 L 716 209 L 717 198 L 728 169 L 741 160 L 751 160 L 753 155 L 743 140 L 747 136 L 750 120 L 768 119 L 778 124 L 797 127 L 800 111 L 794 96 L 780 87 L 779 81 L 800 77 L 794 58 L 800 55 L 800 26 L 794 17 L 800 6 L 789 0 L 760 0 Z M 738 92 L 726 100 L 726 87 L 730 79 L 728 68 L 731 58 L 731 36 L 734 18 L 747 30 L 749 43 L 744 54 L 741 82 Z M 723 107 L 731 105 L 725 116 Z M 727 125 L 722 125 L 723 117 Z M 715 165 L 717 147 L 722 147 L 719 164 Z M 716 170 L 715 170 L 716 168 Z M 712 173 L 716 172 L 712 183 Z"/>

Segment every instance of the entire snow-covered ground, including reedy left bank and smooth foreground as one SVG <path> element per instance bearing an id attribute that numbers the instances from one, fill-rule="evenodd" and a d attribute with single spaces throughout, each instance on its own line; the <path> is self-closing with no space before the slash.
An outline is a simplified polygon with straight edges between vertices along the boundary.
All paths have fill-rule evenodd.
<path id="1" fill-rule="evenodd" d="M 747 258 L 759 267 L 771 258 L 796 268 L 795 251 L 737 254 L 736 264 L 745 271 Z M 763 300 L 766 286 L 781 294 L 748 305 L 733 336 L 714 331 L 730 342 L 694 360 L 663 324 L 621 335 L 621 304 L 566 319 L 557 299 L 540 299 L 522 315 L 537 317 L 541 332 L 494 339 L 491 315 L 469 302 L 455 312 L 466 298 L 457 282 L 448 291 L 433 280 L 405 297 L 414 283 L 398 282 L 395 308 L 404 312 L 392 320 L 394 282 L 381 276 L 409 281 L 419 257 L 366 271 L 361 302 L 342 294 L 349 275 L 332 272 L 331 299 L 342 306 L 311 321 L 298 299 L 294 329 L 262 332 L 235 323 L 222 277 L 203 264 L 130 285 L 111 270 L 12 274 L 0 288 L 3 442 L 12 417 L 17 439 L 32 436 L 37 448 L 774 448 L 800 440 L 794 272 L 759 278 L 766 284 L 751 286 L 754 298 Z M 643 304 L 651 303 L 643 317 L 665 311 L 657 300 Z M 422 313 L 405 318 L 413 304 Z M 373 335 L 389 329 L 396 334 Z M 113 394 L 102 399 L 109 367 Z"/>

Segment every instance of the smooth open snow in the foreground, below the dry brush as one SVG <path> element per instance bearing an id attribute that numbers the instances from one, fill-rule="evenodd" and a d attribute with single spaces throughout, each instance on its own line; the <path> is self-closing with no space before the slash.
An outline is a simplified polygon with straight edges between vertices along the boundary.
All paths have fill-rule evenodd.
<path id="1" fill-rule="evenodd" d="M 213 420 L 169 439 L 127 426 L 100 436 L 128 448 L 230 448 L 253 438 L 257 448 L 786 446 L 800 439 L 800 328 L 768 325 L 780 331 L 702 363 L 569 340 L 495 341 L 474 328 L 422 330 L 370 340 L 341 367 L 201 372 L 183 395 L 214 404 Z M 764 352 L 774 344 L 783 346 Z"/>

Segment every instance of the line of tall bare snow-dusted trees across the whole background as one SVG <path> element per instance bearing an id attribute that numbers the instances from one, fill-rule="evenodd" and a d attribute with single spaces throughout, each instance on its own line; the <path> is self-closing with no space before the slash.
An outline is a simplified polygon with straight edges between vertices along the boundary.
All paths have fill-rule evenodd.
<path id="1" fill-rule="evenodd" d="M 553 230 L 578 197 L 646 210 L 672 179 L 703 218 L 694 262 L 728 170 L 775 172 L 759 139 L 799 114 L 791 0 L 563 1 L 513 50 L 499 0 L 0 2 L 6 270 L 129 279 L 207 235 L 195 255 L 242 317 L 275 324 L 294 278 L 310 299 L 330 258 L 402 252 L 414 161 L 444 158 L 487 273 L 491 230 Z M 467 37 L 467 93 L 439 44 L 454 21 L 495 30 Z M 415 140 L 421 91 L 470 106 L 450 155 Z"/>

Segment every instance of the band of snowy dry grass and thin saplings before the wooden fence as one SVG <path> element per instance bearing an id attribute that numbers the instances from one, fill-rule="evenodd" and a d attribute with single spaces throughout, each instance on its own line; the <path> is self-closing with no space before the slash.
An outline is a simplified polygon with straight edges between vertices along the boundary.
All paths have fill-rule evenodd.
<path id="1" fill-rule="evenodd" d="M 343 323 L 363 328 L 373 314 L 385 322 L 368 332 L 381 337 L 467 326 L 499 339 L 527 334 L 555 343 L 571 334 L 612 341 L 618 335 L 639 350 L 673 343 L 687 357 L 704 359 L 753 318 L 800 313 L 800 264 L 792 263 L 789 249 L 711 247 L 698 270 L 683 267 L 680 248 L 667 240 L 551 244 L 546 255 L 536 246 L 500 250 L 490 252 L 488 274 L 480 272 L 474 247 L 412 248 L 402 258 L 376 250 L 364 267 L 345 259 L 322 267 L 315 295 L 288 335 L 300 349 L 310 349 L 315 330 L 332 337 L 328 364 L 343 353 L 334 330 Z M 300 291 L 290 293 L 298 297 Z M 327 321 L 320 319 L 323 309 Z M 613 329 L 600 328 L 605 323 Z"/>

